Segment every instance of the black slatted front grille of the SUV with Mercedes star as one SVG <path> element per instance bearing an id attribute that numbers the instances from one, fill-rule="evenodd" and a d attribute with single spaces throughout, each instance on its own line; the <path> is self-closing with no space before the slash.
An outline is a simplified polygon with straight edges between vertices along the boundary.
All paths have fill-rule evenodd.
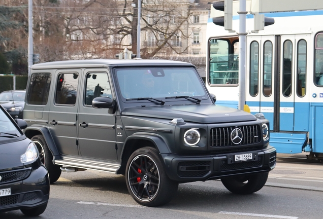
<path id="1" fill-rule="evenodd" d="M 235 144 L 231 140 L 231 132 L 235 128 L 239 128 L 242 132 L 242 141 Z M 211 147 L 228 147 L 239 146 L 253 143 L 259 143 L 262 139 L 262 132 L 259 125 L 245 125 L 212 128 L 210 131 L 210 146 Z"/>

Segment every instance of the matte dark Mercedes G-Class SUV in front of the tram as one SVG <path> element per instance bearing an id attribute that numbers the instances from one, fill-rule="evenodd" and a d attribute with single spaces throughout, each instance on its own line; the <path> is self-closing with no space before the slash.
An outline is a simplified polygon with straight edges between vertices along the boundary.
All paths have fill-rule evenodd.
<path id="1" fill-rule="evenodd" d="M 221 179 L 233 193 L 254 193 L 276 164 L 268 120 L 216 105 L 185 62 L 35 64 L 23 116 L 51 182 L 61 171 L 123 174 L 145 206 L 171 201 L 183 182 Z"/>

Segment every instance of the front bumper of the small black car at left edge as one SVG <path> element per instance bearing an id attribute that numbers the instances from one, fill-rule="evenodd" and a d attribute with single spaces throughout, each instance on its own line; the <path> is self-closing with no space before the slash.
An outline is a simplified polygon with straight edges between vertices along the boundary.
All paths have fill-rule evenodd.
<path id="1" fill-rule="evenodd" d="M 25 174 L 24 171 L 27 171 L 26 177 L 23 175 Z M 43 165 L 37 169 L 25 168 L 23 170 L 0 172 L 0 175 L 10 175 L 12 179 L 0 183 L 0 190 L 11 189 L 10 196 L 0 197 L 0 211 L 33 208 L 48 202 L 49 178 Z M 24 178 L 18 180 L 19 177 Z"/>

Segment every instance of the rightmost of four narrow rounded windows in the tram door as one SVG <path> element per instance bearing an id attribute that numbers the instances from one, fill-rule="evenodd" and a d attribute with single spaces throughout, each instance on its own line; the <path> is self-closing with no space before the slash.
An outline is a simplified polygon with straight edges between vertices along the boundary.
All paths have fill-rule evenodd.
<path id="1" fill-rule="evenodd" d="M 297 45 L 297 74 L 296 74 L 296 93 L 303 97 L 306 94 L 306 59 L 307 43 L 300 40 Z"/>

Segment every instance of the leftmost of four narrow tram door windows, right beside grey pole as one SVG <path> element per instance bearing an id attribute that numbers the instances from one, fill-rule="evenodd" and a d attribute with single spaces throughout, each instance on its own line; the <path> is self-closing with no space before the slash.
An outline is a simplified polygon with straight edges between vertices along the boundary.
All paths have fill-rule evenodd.
<path id="1" fill-rule="evenodd" d="M 256 96 L 258 94 L 258 82 L 259 82 L 259 44 L 253 41 L 250 44 L 250 85 L 249 94 Z"/>

